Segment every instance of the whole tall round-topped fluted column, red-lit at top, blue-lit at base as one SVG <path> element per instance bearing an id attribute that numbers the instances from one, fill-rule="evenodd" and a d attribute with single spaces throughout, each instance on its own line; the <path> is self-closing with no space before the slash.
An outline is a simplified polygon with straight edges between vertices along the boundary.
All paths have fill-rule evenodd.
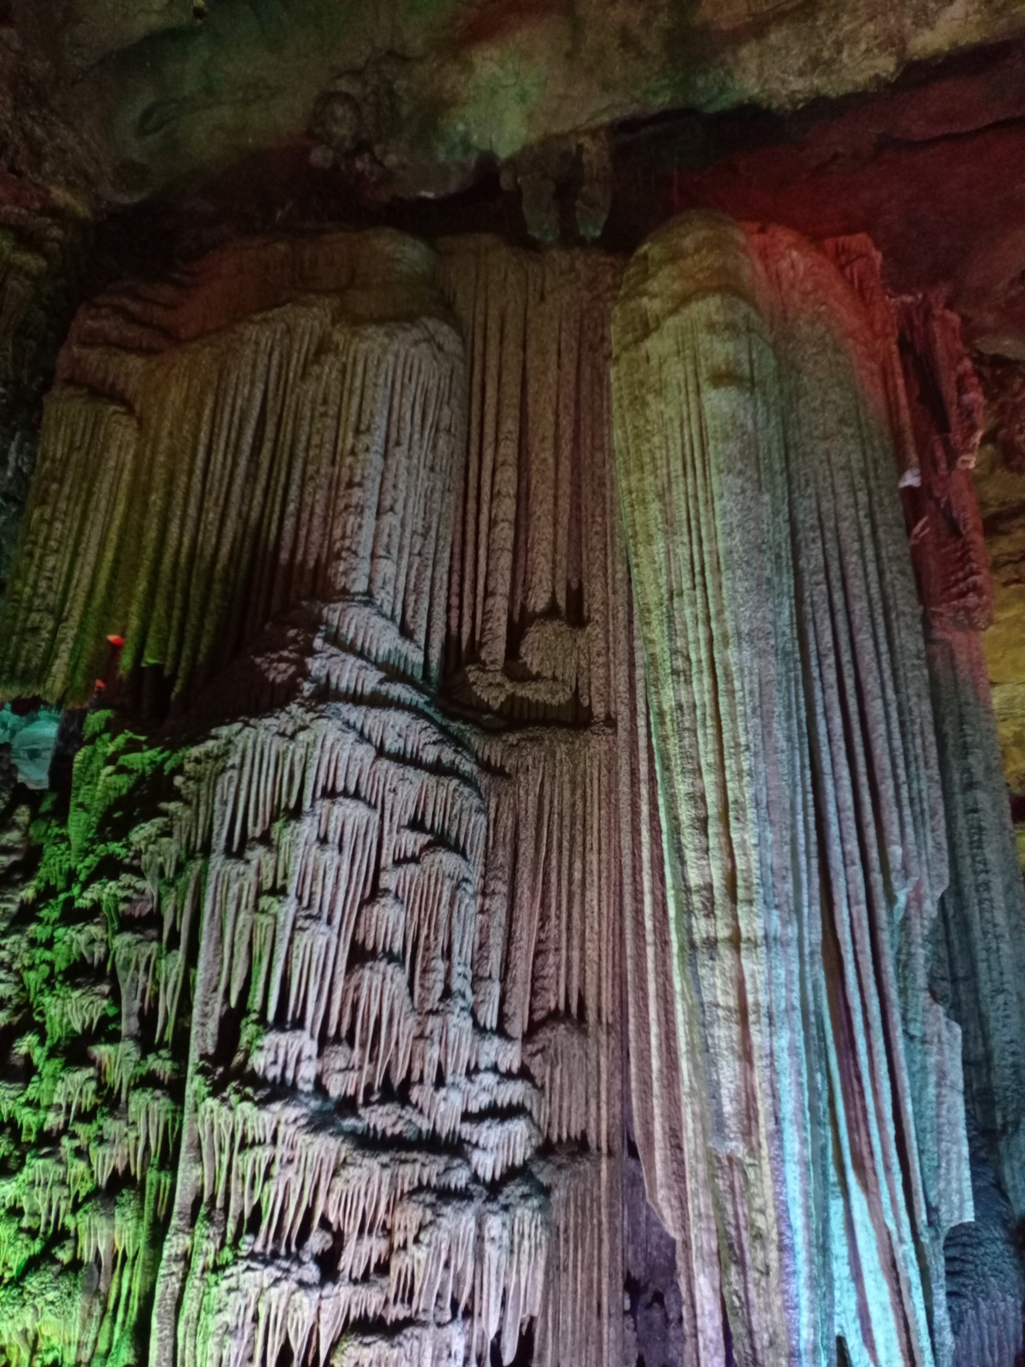
<path id="1" fill-rule="evenodd" d="M 932 1363 L 970 1189 L 959 1032 L 927 986 L 946 850 L 864 310 L 794 235 L 678 220 L 625 278 L 614 420 L 672 949 L 655 1031 L 700 1128 L 737 1359 L 827 1363 L 842 1338 L 856 1367 Z"/>

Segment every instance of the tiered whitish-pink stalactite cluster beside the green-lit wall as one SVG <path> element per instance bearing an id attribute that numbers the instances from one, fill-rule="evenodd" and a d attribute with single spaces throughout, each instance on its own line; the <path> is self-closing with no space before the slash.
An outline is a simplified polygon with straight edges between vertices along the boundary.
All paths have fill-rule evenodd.
<path id="1" fill-rule="evenodd" d="M 491 1211 L 481 1185 L 522 1170 L 538 1102 L 472 1012 L 472 755 L 384 701 L 295 703 L 215 733 L 182 796 L 164 879 L 208 872 L 172 1240 L 197 1196 L 208 1233 L 165 1259 L 160 1360 L 273 1363 L 286 1337 L 323 1360 L 362 1321 L 470 1303 L 476 1351 L 502 1330 L 511 1356 L 548 1226 L 540 1188 Z"/>

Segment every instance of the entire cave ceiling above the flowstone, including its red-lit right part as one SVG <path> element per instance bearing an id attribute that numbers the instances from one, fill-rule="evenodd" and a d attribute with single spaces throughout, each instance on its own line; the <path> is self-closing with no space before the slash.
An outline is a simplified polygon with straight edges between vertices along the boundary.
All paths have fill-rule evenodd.
<path id="1" fill-rule="evenodd" d="M 1010 0 L 8 0 L 0 220 L 30 250 L 139 206 L 178 250 L 325 217 L 630 250 L 715 206 L 868 231 L 1018 355 L 1024 31 Z"/>

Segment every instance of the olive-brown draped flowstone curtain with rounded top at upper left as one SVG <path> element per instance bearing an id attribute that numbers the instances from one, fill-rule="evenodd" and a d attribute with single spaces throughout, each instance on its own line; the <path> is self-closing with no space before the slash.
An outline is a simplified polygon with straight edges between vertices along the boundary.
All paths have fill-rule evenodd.
<path id="1" fill-rule="evenodd" d="M 462 346 L 432 254 L 392 234 L 242 245 L 77 320 L 46 401 L 0 638 L 0 690 L 178 689 L 272 618 L 336 610 L 344 644 L 436 679 Z"/>

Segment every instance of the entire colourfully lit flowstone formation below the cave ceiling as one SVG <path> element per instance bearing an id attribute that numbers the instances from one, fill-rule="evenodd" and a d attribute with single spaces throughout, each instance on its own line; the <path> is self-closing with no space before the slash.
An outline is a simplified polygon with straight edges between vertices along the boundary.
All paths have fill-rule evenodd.
<path id="1" fill-rule="evenodd" d="M 86 709 L 0 787 L 5 1360 L 1013 1344 L 974 403 L 865 239 L 709 215 L 86 305 L 0 618 Z"/>

